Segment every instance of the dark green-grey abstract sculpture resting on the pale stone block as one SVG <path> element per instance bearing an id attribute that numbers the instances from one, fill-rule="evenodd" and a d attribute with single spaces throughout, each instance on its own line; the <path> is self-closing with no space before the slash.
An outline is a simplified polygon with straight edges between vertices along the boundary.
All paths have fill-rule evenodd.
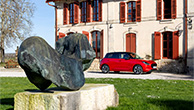
<path id="1" fill-rule="evenodd" d="M 18 51 L 18 63 L 28 79 L 44 91 L 51 83 L 68 90 L 78 90 L 84 83 L 83 71 L 95 58 L 95 52 L 83 34 L 71 34 L 56 42 L 54 50 L 44 39 L 30 37 Z"/>

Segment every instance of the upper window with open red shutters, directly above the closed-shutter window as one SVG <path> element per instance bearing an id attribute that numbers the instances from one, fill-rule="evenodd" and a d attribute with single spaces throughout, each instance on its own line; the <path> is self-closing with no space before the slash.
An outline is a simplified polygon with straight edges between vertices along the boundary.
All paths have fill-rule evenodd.
<path id="1" fill-rule="evenodd" d="M 125 7 L 127 12 L 125 13 Z M 125 16 L 127 15 L 127 22 L 141 21 L 141 0 L 130 1 L 128 3 L 120 2 L 120 23 L 125 23 Z"/>

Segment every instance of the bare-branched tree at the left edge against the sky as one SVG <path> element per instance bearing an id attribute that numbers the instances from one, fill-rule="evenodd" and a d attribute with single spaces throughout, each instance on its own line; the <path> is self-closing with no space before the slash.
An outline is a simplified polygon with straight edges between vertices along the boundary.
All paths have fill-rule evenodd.
<path id="1" fill-rule="evenodd" d="M 30 35 L 34 9 L 29 0 L 0 0 L 0 62 L 5 62 L 5 46 Z"/>

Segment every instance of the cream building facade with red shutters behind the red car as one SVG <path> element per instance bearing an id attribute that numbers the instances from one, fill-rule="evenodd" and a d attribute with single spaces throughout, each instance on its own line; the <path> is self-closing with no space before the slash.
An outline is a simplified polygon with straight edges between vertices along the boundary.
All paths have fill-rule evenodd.
<path id="1" fill-rule="evenodd" d="M 193 29 L 185 29 L 187 0 L 47 0 L 50 2 L 56 9 L 56 41 L 83 33 L 96 59 L 107 52 L 126 51 L 155 60 L 163 69 L 176 64 L 169 70 L 182 72 L 193 66 L 186 60 L 188 50 L 194 49 L 189 37 Z M 193 10 L 189 13 L 193 16 Z M 189 58 L 193 61 L 193 56 Z"/>

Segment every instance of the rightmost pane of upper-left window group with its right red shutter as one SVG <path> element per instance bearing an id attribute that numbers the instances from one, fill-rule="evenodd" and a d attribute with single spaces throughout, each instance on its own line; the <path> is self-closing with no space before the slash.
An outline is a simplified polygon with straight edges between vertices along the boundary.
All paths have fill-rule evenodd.
<path id="1" fill-rule="evenodd" d="M 102 21 L 102 0 L 93 1 L 93 21 Z"/>

